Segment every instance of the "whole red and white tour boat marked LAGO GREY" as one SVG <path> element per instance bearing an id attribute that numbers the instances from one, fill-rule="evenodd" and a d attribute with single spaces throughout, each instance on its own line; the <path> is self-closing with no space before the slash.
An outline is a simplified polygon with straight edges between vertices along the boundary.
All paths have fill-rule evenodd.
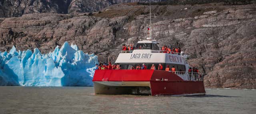
<path id="1" fill-rule="evenodd" d="M 150 8 L 151 9 L 151 8 Z M 188 55 L 183 52 L 160 51 L 158 42 L 151 37 L 151 10 L 149 37 L 138 41 L 133 51 L 121 51 L 116 62 L 120 70 L 96 70 L 93 77 L 95 94 L 140 94 L 188 96 L 204 95 L 203 77 L 188 72 Z M 147 69 L 131 70 L 142 64 Z M 156 70 L 150 70 L 152 64 Z M 162 64 L 164 70 L 158 70 Z M 165 71 L 166 67 L 176 71 Z"/>

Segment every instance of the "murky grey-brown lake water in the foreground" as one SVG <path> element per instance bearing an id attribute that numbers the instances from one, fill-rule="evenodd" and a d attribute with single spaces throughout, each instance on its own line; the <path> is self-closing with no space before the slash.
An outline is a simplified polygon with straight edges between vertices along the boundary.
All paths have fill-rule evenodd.
<path id="1" fill-rule="evenodd" d="M 0 86 L 0 114 L 256 114 L 256 90 L 156 97 L 94 95 L 93 87 Z"/>

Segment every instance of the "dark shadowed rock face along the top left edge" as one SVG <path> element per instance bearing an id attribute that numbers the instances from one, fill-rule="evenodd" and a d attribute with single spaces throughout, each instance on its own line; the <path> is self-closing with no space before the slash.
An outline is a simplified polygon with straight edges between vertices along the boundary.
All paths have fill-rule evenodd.
<path id="1" fill-rule="evenodd" d="M 148 0 L 1 0 L 0 18 L 32 13 L 73 14 L 95 12 L 112 4 L 147 2 Z M 151 0 L 161 2 L 165 0 Z"/>

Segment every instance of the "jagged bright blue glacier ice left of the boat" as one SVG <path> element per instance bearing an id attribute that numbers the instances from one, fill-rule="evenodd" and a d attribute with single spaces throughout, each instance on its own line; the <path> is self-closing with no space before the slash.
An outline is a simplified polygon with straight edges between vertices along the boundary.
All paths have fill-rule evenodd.
<path id="1" fill-rule="evenodd" d="M 38 48 L 0 52 L 0 86 L 93 86 L 98 57 L 65 42 L 53 52 Z"/>

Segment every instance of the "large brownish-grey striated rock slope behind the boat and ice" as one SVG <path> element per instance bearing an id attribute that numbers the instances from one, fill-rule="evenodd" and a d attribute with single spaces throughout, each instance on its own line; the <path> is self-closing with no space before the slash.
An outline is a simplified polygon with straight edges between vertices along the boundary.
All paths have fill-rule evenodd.
<path id="1" fill-rule="evenodd" d="M 79 0 L 78 0 L 79 1 Z M 72 4 L 72 3 L 71 3 Z M 71 8 L 71 7 L 70 7 Z M 122 44 L 144 38 L 149 6 L 116 4 L 101 13 L 25 14 L 0 18 L 0 51 L 38 47 L 53 51 L 65 41 L 114 62 Z M 208 88 L 256 88 L 256 4 L 152 6 L 153 37 L 190 55 Z"/>

